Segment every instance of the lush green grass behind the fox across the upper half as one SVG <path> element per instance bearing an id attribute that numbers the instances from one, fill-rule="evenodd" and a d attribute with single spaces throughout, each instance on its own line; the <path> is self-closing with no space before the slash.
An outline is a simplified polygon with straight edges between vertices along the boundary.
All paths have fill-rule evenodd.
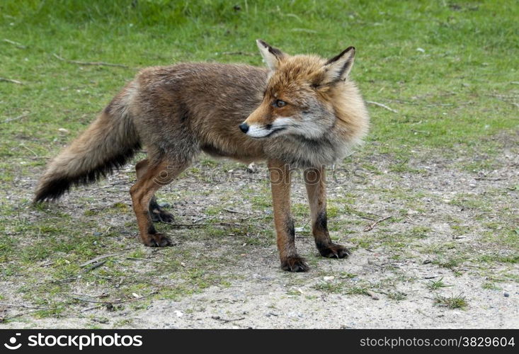
<path id="1" fill-rule="evenodd" d="M 136 4 L 132 6 L 132 4 Z M 4 156 L 49 154 L 89 122 L 138 67 L 180 61 L 261 64 L 254 39 L 290 53 L 331 57 L 358 48 L 353 78 L 372 107 L 370 141 L 402 156 L 404 146 L 481 147 L 481 137 L 518 127 L 512 100 L 517 78 L 515 1 L 482 1 L 454 9 L 438 1 L 19 1 L 0 4 L 0 117 Z M 488 16 L 491 13 L 492 16 Z M 417 51 L 423 48 L 425 52 Z M 228 54 L 237 52 L 238 54 Z M 239 54 L 239 53 L 245 53 Z M 251 55 L 249 55 L 249 53 Z M 81 66 L 56 59 L 111 62 L 129 68 Z M 396 101 L 395 101 L 396 100 Z M 445 113 L 445 114 L 444 114 Z M 38 129 L 36 129 L 38 127 Z M 427 132 L 426 135 L 416 131 Z M 38 132 L 38 133 L 37 133 Z M 73 135 L 73 133 L 72 133 Z M 49 145 L 49 142 L 51 144 Z M 484 150 L 493 144 L 486 142 Z M 29 161 L 40 165 L 41 160 Z M 12 176 L 12 169 L 6 175 Z"/>

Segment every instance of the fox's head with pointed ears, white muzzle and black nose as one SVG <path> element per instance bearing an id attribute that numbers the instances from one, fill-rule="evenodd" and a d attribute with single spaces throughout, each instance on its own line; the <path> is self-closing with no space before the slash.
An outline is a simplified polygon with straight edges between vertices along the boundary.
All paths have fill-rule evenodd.
<path id="1" fill-rule="evenodd" d="M 315 55 L 290 56 L 263 40 L 257 45 L 270 73 L 263 101 L 239 128 L 256 139 L 300 135 L 318 139 L 333 127 L 346 79 L 355 57 L 348 47 L 329 60 Z M 340 109 L 339 109 L 340 110 Z"/>

